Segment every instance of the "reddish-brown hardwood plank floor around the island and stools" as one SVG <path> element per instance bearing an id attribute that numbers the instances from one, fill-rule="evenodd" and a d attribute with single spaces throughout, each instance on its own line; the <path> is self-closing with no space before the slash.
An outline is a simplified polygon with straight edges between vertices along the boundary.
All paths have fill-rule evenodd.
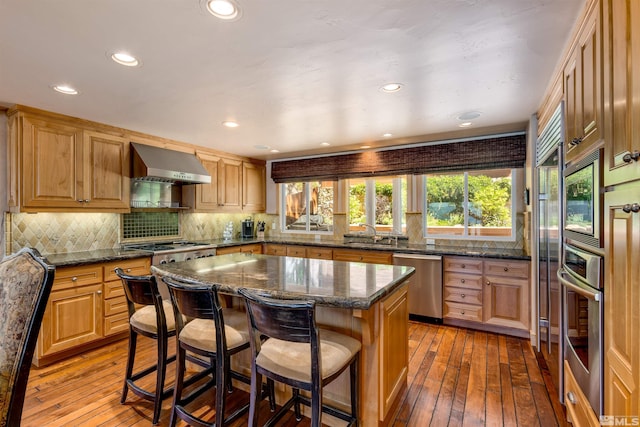
<path id="1" fill-rule="evenodd" d="M 562 406 L 550 399 L 549 374 L 540 369 L 527 340 L 448 326 L 410 322 L 408 387 L 393 421 L 400 426 L 565 426 Z M 138 360 L 154 357 L 142 339 Z M 31 369 L 22 426 L 148 426 L 152 405 L 129 393 L 120 404 L 127 340 L 62 362 Z M 173 365 L 167 372 L 173 381 Z M 150 382 L 151 384 L 151 382 Z M 229 407 L 248 395 L 234 391 Z M 214 393 L 193 402 L 213 419 Z M 171 399 L 160 425 L 168 425 Z M 268 417 L 263 402 L 262 420 Z M 178 424 L 184 425 L 184 424 Z M 246 415 L 231 424 L 246 425 Z M 296 423 L 293 414 L 282 426 Z"/>

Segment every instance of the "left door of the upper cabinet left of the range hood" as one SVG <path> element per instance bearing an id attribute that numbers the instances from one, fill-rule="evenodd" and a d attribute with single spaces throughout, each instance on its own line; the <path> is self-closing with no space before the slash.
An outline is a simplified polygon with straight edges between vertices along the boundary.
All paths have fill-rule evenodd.
<path id="1" fill-rule="evenodd" d="M 24 116 L 22 119 L 22 206 L 80 208 L 82 131 L 76 127 Z"/>

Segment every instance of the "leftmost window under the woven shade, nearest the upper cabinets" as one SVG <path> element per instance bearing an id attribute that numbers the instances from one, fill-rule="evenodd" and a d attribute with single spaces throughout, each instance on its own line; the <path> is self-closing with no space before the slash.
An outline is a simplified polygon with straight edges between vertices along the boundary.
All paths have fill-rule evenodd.
<path id="1" fill-rule="evenodd" d="M 333 181 L 280 185 L 283 231 L 333 232 Z"/>

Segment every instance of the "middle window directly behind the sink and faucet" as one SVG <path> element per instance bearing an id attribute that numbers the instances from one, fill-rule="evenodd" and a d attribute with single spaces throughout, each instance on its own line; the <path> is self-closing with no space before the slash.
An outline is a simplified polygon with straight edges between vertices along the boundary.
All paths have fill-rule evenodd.
<path id="1" fill-rule="evenodd" d="M 378 231 L 403 234 L 406 210 L 405 176 L 349 180 L 349 230 L 361 230 L 360 224 L 369 224 Z"/>

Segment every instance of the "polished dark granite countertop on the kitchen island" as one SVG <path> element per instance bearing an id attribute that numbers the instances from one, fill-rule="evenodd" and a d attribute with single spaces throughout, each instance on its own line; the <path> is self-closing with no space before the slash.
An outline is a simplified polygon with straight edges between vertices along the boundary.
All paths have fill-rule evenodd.
<path id="1" fill-rule="evenodd" d="M 275 298 L 312 299 L 339 308 L 368 309 L 393 293 L 413 267 L 235 253 L 152 266 L 161 276 L 237 294 L 258 289 Z"/>

